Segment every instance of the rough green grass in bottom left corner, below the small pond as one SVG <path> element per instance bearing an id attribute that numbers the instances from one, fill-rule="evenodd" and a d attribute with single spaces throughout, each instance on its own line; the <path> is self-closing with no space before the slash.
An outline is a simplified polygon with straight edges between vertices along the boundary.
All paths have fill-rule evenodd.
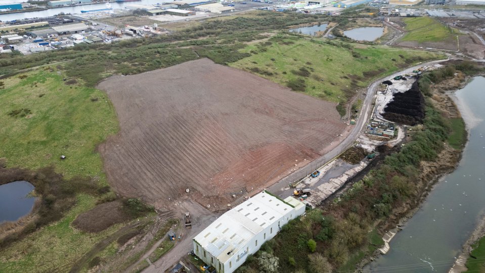
<path id="1" fill-rule="evenodd" d="M 0 251 L 0 271 L 68 271 L 82 254 L 89 251 L 99 240 L 120 228 L 120 224 L 113 225 L 97 234 L 73 229 L 71 222 L 76 216 L 95 205 L 96 198 L 90 195 L 78 195 L 77 204 L 63 219 Z"/>

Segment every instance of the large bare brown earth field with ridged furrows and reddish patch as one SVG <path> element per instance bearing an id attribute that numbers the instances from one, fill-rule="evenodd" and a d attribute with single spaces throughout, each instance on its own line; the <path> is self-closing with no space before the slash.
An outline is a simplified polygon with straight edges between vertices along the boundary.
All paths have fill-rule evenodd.
<path id="1" fill-rule="evenodd" d="M 156 207 L 211 209 L 317 158 L 345 123 L 335 104 L 208 59 L 101 82 L 120 132 L 99 147 L 110 184 Z M 239 197 L 239 196 L 238 196 Z"/>

